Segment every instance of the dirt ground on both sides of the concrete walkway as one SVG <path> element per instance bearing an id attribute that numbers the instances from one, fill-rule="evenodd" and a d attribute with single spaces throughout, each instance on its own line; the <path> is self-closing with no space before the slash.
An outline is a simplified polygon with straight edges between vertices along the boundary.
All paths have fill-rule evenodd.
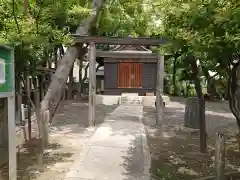
<path id="1" fill-rule="evenodd" d="M 87 128 L 87 104 L 65 101 L 53 119 L 50 145 L 44 154 L 44 173 L 37 170 L 35 141 L 18 153 L 18 180 L 62 180 L 94 129 Z M 116 106 L 97 106 L 97 124 Z M 170 98 L 163 128 L 155 125 L 156 109 L 144 107 L 144 124 L 156 180 L 192 180 L 214 174 L 214 144 L 217 132 L 226 137 L 226 171 L 240 170 L 240 153 L 234 135 L 236 121 L 225 102 L 206 103 L 208 152 L 199 153 L 199 133 L 183 128 L 185 99 Z M 63 113 L 65 112 L 65 113 Z M 67 113 L 66 113 L 67 112 Z M 29 148 L 31 147 L 31 148 Z M 0 168 L 0 180 L 7 180 L 7 165 Z M 235 178 L 235 180 L 240 178 Z"/>

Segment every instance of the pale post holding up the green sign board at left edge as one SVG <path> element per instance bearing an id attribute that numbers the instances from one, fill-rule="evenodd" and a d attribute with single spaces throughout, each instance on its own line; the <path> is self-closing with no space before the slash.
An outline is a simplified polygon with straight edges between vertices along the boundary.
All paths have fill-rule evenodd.
<path id="1" fill-rule="evenodd" d="M 17 180 L 17 152 L 15 127 L 15 96 L 8 97 L 8 157 L 9 180 Z"/>

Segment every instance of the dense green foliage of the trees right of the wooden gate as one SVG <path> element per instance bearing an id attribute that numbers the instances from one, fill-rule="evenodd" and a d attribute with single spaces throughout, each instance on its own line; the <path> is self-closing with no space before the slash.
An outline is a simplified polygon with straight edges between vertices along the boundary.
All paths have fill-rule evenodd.
<path id="1" fill-rule="evenodd" d="M 211 70 L 226 81 L 229 61 L 239 52 L 239 2 L 162 0 L 153 1 L 153 6 L 162 20 L 160 33 L 171 40 L 173 56 L 180 53 L 177 71 L 191 77 L 185 58 L 193 55 L 200 61 L 201 75 L 210 78 Z M 226 86 L 222 88 L 226 93 Z"/>

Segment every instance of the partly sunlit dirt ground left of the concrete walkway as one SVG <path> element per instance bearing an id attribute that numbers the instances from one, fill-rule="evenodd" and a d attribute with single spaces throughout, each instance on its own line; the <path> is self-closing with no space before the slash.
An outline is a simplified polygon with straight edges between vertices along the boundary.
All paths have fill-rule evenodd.
<path id="1" fill-rule="evenodd" d="M 98 105 L 96 124 L 103 122 L 116 106 Z M 65 112 L 65 113 L 64 113 Z M 66 113 L 67 112 L 67 113 Z M 18 153 L 18 180 L 62 180 L 84 143 L 94 132 L 87 128 L 88 104 L 64 101 L 53 119 L 50 144 L 44 154 L 45 169 L 39 173 L 36 141 L 25 145 Z M 8 165 L 0 168 L 0 180 L 8 180 Z"/>

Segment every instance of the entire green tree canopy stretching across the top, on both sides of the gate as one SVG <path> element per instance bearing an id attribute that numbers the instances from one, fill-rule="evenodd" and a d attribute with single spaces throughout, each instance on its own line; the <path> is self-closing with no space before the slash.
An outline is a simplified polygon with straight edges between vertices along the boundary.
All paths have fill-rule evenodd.
<path id="1" fill-rule="evenodd" d="M 239 56 L 239 5 L 237 0 L 108 0 L 90 34 L 167 37 L 171 43 L 160 50 L 171 54 L 166 79 L 172 79 L 172 91 L 180 91 L 178 82 L 193 80 L 186 59 L 191 55 L 201 65 L 200 77 L 218 77 L 220 94 L 226 94 L 231 60 Z M 54 61 L 59 48 L 71 45 L 70 34 L 91 7 L 86 0 L 1 0 L 0 43 L 15 48 L 16 75 Z"/>

